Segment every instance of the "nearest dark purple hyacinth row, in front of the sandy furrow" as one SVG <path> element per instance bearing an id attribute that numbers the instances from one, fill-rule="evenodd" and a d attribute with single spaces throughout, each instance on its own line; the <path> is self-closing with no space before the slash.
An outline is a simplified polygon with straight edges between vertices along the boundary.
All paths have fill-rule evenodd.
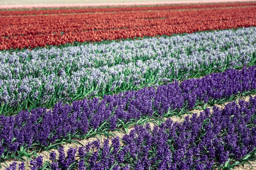
<path id="1" fill-rule="evenodd" d="M 149 124 L 137 125 L 123 136 L 123 144 L 116 137 L 111 145 L 105 140 L 101 146 L 98 140 L 79 147 L 77 160 L 75 148 L 70 147 L 66 156 L 60 147 L 58 159 L 55 152 L 50 153 L 52 163 L 47 166 L 52 170 L 211 170 L 218 166 L 228 169 L 228 159 L 239 161 L 255 152 L 255 113 L 253 97 L 249 102 L 240 99 L 239 104 L 229 103 L 223 110 L 214 106 L 212 114 L 207 108 L 199 116 L 187 116 L 181 123 L 167 119 L 153 130 Z M 30 164 L 40 168 L 41 160 L 38 157 Z"/>

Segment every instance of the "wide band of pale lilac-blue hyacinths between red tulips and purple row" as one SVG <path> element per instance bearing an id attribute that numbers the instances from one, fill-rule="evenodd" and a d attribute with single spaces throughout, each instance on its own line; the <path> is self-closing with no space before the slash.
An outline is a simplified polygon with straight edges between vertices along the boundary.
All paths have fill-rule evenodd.
<path id="1" fill-rule="evenodd" d="M 255 62 L 256 28 L 0 52 L 2 111 L 204 76 Z"/>

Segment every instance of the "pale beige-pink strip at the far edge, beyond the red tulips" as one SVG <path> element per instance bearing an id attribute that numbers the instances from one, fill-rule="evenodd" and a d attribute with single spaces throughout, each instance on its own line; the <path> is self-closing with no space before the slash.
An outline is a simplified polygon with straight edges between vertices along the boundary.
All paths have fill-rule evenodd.
<path id="1" fill-rule="evenodd" d="M 247 1 L 248 0 L 0 0 L 0 9 L 61 8 L 90 6 L 139 6 L 161 4 L 227 3 Z M 250 0 L 250 2 L 256 2 L 256 0 Z"/>

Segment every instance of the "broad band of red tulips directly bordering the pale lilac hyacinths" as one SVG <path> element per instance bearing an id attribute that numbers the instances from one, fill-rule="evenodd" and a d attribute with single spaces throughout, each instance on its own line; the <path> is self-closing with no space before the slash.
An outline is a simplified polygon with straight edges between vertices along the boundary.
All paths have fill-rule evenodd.
<path id="1" fill-rule="evenodd" d="M 256 26 L 256 6 L 0 17 L 0 20 L 0 50 L 3 50 Z"/>

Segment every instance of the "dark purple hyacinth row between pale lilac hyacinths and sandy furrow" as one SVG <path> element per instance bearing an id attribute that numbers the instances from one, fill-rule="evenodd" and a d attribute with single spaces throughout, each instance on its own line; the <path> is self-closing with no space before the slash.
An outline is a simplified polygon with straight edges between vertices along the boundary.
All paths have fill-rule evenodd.
<path id="1" fill-rule="evenodd" d="M 128 121 L 142 116 L 163 115 L 170 110 L 192 108 L 197 101 L 222 99 L 256 89 L 256 66 L 241 71 L 229 69 L 201 79 L 173 82 L 140 91 L 105 95 L 102 100 L 83 99 L 72 105 L 58 103 L 52 110 L 37 108 L 15 116 L 0 116 L 0 155 L 20 146 L 40 143 L 47 146 L 56 139 L 87 134 L 108 121 L 111 129 L 118 119 Z"/>

